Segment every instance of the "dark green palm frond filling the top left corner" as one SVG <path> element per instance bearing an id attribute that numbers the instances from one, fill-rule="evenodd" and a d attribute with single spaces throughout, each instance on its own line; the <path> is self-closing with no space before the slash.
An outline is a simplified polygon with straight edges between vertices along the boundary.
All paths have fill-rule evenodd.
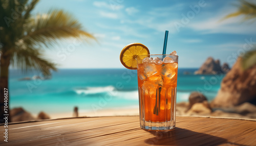
<path id="1" fill-rule="evenodd" d="M 30 19 L 28 15 L 38 0 L 12 0 L 0 1 L 0 43 L 3 43 L 7 50 L 12 48 L 20 37 L 24 36 L 24 26 Z M 27 18 L 25 18 L 27 16 Z"/>

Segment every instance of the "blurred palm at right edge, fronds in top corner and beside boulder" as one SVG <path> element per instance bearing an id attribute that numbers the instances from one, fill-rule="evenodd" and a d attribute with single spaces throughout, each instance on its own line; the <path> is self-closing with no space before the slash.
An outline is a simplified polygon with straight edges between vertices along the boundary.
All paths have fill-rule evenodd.
<path id="1" fill-rule="evenodd" d="M 227 15 L 226 17 L 224 17 L 224 19 L 243 15 L 245 21 L 255 21 L 256 4 L 244 0 L 241 0 L 240 3 L 241 5 L 239 6 L 237 12 Z M 245 70 L 254 65 L 256 65 L 256 48 L 254 48 L 252 51 L 247 52 L 242 59 L 242 66 Z"/>

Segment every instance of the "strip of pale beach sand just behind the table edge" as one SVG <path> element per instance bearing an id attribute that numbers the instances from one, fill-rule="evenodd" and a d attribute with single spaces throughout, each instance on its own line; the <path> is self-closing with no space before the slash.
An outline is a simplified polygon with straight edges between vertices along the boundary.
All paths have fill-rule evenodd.
<path id="1" fill-rule="evenodd" d="M 218 117 L 233 117 L 233 118 L 248 118 L 248 119 L 256 119 L 256 106 L 244 103 L 240 106 L 233 108 L 218 108 L 213 111 L 204 111 L 205 108 L 189 110 L 188 102 L 177 103 L 176 105 L 176 115 L 181 116 L 194 116 L 194 115 L 202 115 L 202 116 L 218 116 Z M 247 109 L 250 107 L 250 110 Z M 194 111 L 196 110 L 196 111 Z M 51 119 L 56 118 L 70 118 L 74 117 L 73 112 L 64 112 L 64 113 L 47 113 Z M 36 114 L 32 114 L 34 117 L 37 117 Z M 127 115 L 139 115 L 139 107 L 126 107 L 126 108 L 111 108 L 111 109 L 101 109 L 97 111 L 87 111 L 87 110 L 78 110 L 78 117 L 96 117 L 96 116 L 127 116 Z"/>

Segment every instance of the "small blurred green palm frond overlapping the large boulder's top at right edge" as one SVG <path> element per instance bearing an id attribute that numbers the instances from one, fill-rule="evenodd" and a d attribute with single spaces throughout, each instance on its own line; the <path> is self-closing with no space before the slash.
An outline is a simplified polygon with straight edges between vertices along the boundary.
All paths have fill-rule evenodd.
<path id="1" fill-rule="evenodd" d="M 252 51 L 246 52 L 242 59 L 242 66 L 245 70 L 254 65 L 256 65 L 256 48 Z"/>

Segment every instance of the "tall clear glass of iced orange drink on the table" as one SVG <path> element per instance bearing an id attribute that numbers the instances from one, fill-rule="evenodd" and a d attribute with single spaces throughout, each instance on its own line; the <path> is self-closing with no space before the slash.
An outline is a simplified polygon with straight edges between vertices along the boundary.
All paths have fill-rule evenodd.
<path id="1" fill-rule="evenodd" d="M 148 130 L 175 128 L 178 56 L 137 57 L 140 127 Z"/>

